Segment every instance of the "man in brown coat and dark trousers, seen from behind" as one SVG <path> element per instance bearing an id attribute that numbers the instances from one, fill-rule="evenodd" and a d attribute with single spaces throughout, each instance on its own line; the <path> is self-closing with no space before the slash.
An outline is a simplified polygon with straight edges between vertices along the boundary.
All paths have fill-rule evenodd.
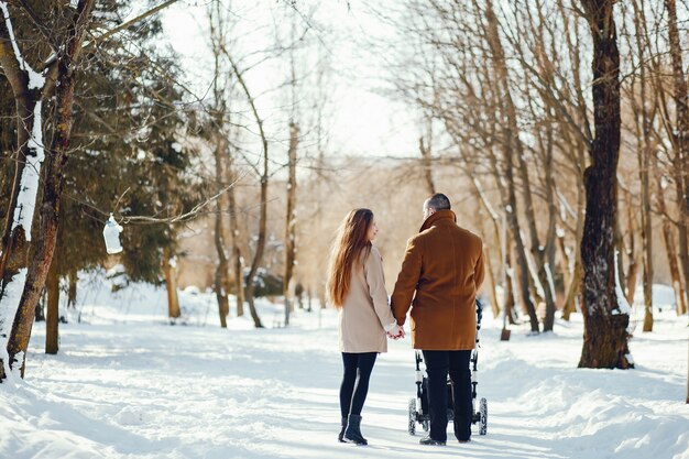
<path id="1" fill-rule="evenodd" d="M 419 233 L 407 243 L 392 309 L 402 326 L 412 308 L 412 346 L 424 352 L 426 361 L 430 433 L 420 444 L 447 441 L 448 372 L 455 436 L 464 442 L 471 437 L 473 415 L 469 360 L 477 340 L 475 297 L 483 282 L 483 242 L 457 225 L 450 200 L 442 194 L 426 199 L 424 220 Z"/>

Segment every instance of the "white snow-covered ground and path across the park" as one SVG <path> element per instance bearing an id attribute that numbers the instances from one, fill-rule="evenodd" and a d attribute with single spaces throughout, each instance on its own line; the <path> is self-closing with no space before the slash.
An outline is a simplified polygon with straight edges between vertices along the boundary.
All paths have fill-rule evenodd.
<path id="1" fill-rule="evenodd" d="M 484 318 L 479 396 L 488 435 L 422 447 L 407 434 L 415 394 L 409 341 L 374 368 L 362 430 L 338 444 L 336 315 L 298 312 L 288 328 L 220 329 L 212 295 L 182 294 L 187 324 L 165 320 L 164 291 L 81 289 L 45 356 L 34 326 L 26 379 L 0 385 L 0 458 L 689 458 L 687 317 L 656 317 L 631 341 L 637 368 L 580 370 L 581 317 L 527 337 Z M 266 327 L 281 319 L 263 300 Z M 420 430 L 420 428 L 419 428 Z M 453 437 L 450 434 L 448 439 Z"/>

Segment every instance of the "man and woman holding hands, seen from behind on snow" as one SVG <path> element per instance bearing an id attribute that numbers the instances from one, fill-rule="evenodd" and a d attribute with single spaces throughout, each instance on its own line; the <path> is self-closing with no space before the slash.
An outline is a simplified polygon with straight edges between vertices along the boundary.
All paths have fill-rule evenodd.
<path id="1" fill-rule="evenodd" d="M 483 282 L 481 238 L 457 225 L 450 201 L 435 194 L 424 203 L 424 223 L 409 239 L 387 303 L 383 260 L 372 244 L 379 232 L 373 212 L 356 209 L 344 218 L 332 247 L 328 292 L 340 309 L 339 336 L 344 374 L 340 386 L 340 441 L 367 445 L 361 411 L 375 358 L 387 351 L 386 336 L 405 337 L 409 308 L 412 346 L 420 349 L 428 373 L 430 431 L 422 445 L 447 441 L 447 375 L 452 382 L 455 436 L 471 437 L 471 374 L 475 346 L 474 300 Z"/>

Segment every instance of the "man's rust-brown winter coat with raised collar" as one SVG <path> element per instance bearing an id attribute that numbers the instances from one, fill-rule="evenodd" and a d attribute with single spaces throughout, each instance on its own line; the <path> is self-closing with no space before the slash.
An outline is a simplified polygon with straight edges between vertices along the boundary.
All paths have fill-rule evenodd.
<path id="1" fill-rule="evenodd" d="M 412 307 L 414 349 L 475 346 L 474 302 L 483 282 L 483 242 L 456 221 L 451 210 L 438 210 L 407 243 L 392 308 L 397 324 L 404 325 Z"/>

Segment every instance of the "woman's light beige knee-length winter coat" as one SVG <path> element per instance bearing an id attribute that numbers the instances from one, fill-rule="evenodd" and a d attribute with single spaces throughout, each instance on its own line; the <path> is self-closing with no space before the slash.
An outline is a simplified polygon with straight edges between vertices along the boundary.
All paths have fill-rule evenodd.
<path id="1" fill-rule="evenodd" d="M 385 292 L 383 259 L 372 247 L 364 263 L 352 266 L 349 293 L 340 309 L 340 351 L 387 352 L 385 327 L 394 324 Z"/>

